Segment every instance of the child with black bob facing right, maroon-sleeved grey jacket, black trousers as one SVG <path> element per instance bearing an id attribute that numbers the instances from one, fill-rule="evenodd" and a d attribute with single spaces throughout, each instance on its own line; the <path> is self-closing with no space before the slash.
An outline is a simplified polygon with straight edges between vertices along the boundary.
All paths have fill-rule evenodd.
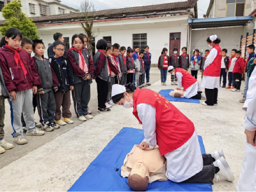
<path id="1" fill-rule="evenodd" d="M 111 110 L 106 108 L 106 101 L 108 96 L 108 59 L 106 56 L 106 49 L 108 44 L 106 40 L 100 39 L 96 44 L 98 51 L 93 57 L 94 61 L 94 76 L 97 83 L 98 92 L 98 110 L 100 113 L 108 113 Z"/>

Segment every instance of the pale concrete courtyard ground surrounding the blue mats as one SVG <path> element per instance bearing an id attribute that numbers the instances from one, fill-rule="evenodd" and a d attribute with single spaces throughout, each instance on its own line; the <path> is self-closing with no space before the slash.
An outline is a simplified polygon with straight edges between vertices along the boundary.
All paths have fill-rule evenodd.
<path id="1" fill-rule="evenodd" d="M 150 81 L 154 84 L 148 88 L 156 92 L 177 87 L 170 85 L 169 74 L 167 86 L 161 86 L 157 68 L 152 68 L 150 74 Z M 200 76 L 198 79 L 201 81 Z M 92 120 L 81 123 L 72 116 L 75 122 L 72 125 L 47 132 L 44 136 L 25 136 L 28 139 L 26 145 L 16 145 L 12 141 L 10 109 L 6 102 L 5 140 L 15 147 L 0 155 L 0 190 L 67 191 L 122 127 L 141 129 L 132 109 L 113 106 L 111 113 L 98 114 L 96 95 L 96 83 L 93 82 L 89 105 L 94 116 Z M 236 191 L 246 141 L 243 128 L 245 112 L 241 109 L 243 104 L 238 102 L 241 97 L 241 92 L 220 88 L 218 106 L 172 102 L 195 124 L 198 134 L 203 137 L 206 152 L 222 149 L 225 153 L 236 180 L 215 180 L 214 191 Z M 73 106 L 70 109 L 74 114 Z M 38 122 L 37 113 L 35 118 Z"/>

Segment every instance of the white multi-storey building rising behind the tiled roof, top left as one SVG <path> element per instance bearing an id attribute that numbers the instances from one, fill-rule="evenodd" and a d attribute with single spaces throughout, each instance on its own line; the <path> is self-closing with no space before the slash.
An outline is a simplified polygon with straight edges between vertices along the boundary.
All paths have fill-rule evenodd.
<path id="1" fill-rule="evenodd" d="M 42 17 L 45 15 L 60 15 L 65 13 L 77 13 L 79 10 L 74 9 L 65 4 L 61 4 L 60 0 L 20 0 L 22 4 L 22 12 L 28 17 Z M 0 11 L 4 4 L 11 1 L 0 0 Z M 2 12 L 0 12 L 0 20 L 4 20 Z"/>

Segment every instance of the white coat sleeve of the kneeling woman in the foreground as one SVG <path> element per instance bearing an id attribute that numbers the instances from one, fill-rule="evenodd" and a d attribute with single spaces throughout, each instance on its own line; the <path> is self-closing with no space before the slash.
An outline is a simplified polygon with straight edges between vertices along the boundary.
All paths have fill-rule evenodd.
<path id="1" fill-rule="evenodd" d="M 147 144 L 150 148 L 155 148 L 156 141 L 156 108 L 150 104 L 141 103 L 137 106 L 138 116 L 142 122 L 142 129 Z"/>

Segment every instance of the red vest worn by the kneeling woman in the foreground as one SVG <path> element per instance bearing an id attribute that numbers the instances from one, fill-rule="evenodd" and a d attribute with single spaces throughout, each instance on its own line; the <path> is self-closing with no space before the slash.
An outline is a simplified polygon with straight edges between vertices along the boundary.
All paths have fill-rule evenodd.
<path id="1" fill-rule="evenodd" d="M 137 88 L 133 100 L 132 113 L 141 124 L 137 111 L 138 104 L 146 103 L 156 108 L 156 139 L 161 156 L 184 145 L 195 132 L 191 120 L 157 92 Z"/>

